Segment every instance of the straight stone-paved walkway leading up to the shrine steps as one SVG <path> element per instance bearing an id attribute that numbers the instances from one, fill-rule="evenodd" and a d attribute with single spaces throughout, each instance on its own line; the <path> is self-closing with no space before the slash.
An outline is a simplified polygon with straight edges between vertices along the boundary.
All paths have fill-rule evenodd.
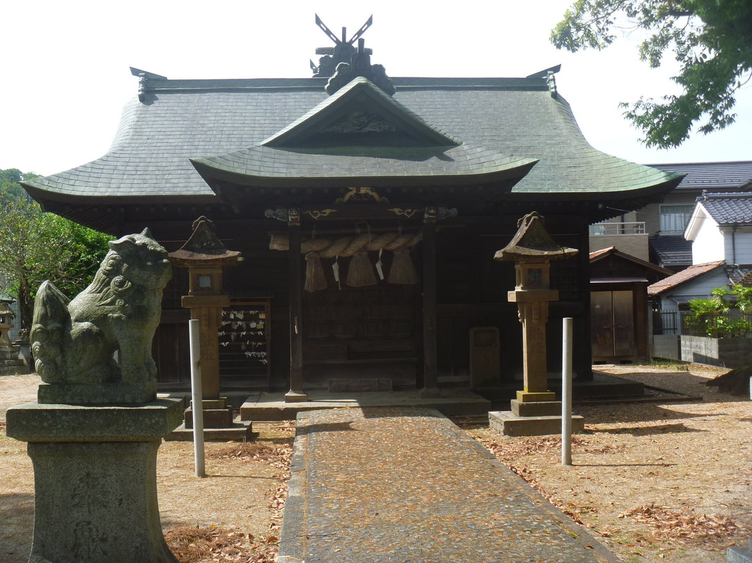
<path id="1" fill-rule="evenodd" d="M 619 561 L 437 411 L 298 415 L 279 563 Z"/>

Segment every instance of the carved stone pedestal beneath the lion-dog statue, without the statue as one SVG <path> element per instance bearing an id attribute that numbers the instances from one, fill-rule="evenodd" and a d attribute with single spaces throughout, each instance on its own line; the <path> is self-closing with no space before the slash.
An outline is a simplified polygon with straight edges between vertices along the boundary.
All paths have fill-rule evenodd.
<path id="1" fill-rule="evenodd" d="M 8 409 L 8 436 L 29 443 L 34 464 L 29 563 L 177 561 L 159 522 L 156 452 L 181 418 L 169 399 Z"/>

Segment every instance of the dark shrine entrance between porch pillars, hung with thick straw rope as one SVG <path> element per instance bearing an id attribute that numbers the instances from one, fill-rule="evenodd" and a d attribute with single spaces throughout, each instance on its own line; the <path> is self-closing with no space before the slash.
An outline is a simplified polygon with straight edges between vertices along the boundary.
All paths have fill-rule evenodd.
<path id="1" fill-rule="evenodd" d="M 358 214 L 353 230 L 319 224 L 271 235 L 270 248 L 289 253 L 290 282 L 300 295 L 300 309 L 291 312 L 291 339 L 301 342 L 305 390 L 390 391 L 425 382 L 424 274 L 435 283 L 435 269 L 423 263 L 423 239 L 429 233 L 434 257 L 435 225 L 410 224 L 403 231 L 399 221 L 377 221 L 371 230 L 362 217 L 374 208 Z M 429 291 L 429 303 L 433 295 Z M 429 309 L 433 313 L 435 305 Z"/>

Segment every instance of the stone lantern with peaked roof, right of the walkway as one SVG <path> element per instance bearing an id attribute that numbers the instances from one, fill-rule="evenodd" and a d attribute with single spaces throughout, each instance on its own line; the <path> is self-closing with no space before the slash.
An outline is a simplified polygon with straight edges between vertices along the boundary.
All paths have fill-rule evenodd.
<path id="1" fill-rule="evenodd" d="M 511 414 L 516 417 L 556 417 L 561 415 L 561 403 L 548 389 L 546 361 L 546 323 L 548 303 L 559 300 L 559 291 L 550 287 L 550 262 L 577 254 L 577 249 L 556 244 L 544 227 L 541 215 L 525 215 L 517 223 L 517 233 L 511 242 L 496 252 L 495 260 L 514 260 L 516 283 L 508 300 L 517 303 L 523 326 L 523 390 L 511 400 Z M 556 425 L 560 418 L 556 419 Z M 508 435 L 537 434 L 537 432 L 504 432 Z M 539 434 L 547 434 L 541 431 Z"/>

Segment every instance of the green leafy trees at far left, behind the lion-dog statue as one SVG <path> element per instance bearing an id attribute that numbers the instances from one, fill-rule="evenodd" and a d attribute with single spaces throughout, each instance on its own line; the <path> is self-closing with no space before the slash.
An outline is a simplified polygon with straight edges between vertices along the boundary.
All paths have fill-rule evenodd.
<path id="1" fill-rule="evenodd" d="M 110 236 L 44 213 L 18 184 L 34 178 L 0 170 L 0 289 L 18 298 L 21 326 L 31 327 L 34 297 L 51 280 L 72 297 L 91 282 Z"/>

